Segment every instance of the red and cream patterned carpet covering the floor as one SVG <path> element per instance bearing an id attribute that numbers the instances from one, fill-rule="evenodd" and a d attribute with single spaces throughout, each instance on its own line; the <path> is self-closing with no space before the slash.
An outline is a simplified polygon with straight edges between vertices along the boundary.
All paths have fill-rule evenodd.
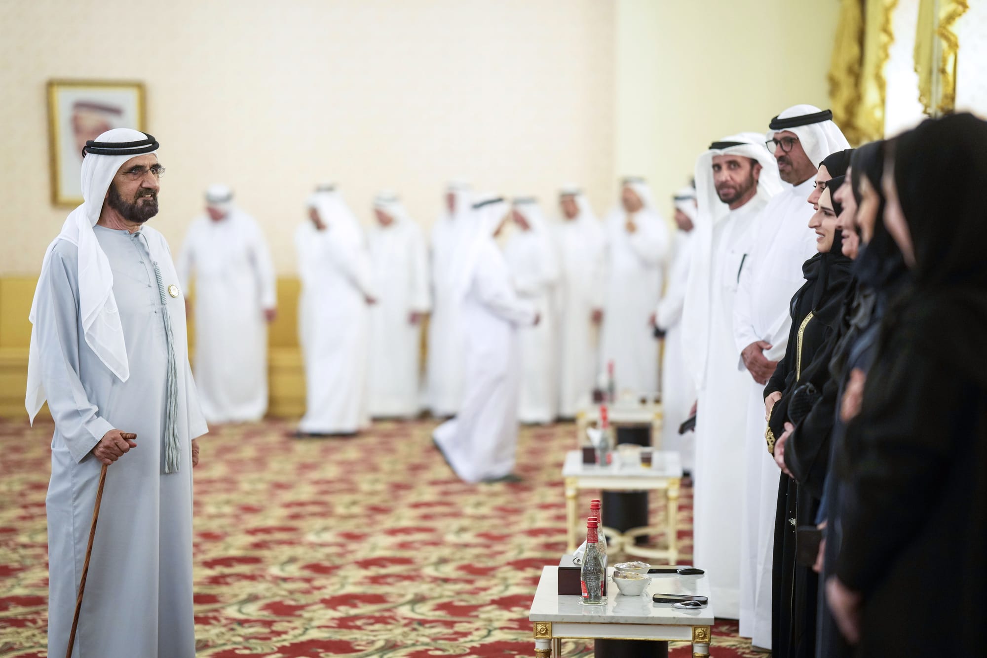
<path id="1" fill-rule="evenodd" d="M 195 470 L 198 655 L 534 655 L 528 608 L 542 565 L 565 549 L 560 471 L 573 427 L 523 430 L 524 482 L 473 486 L 431 447 L 433 425 L 293 440 L 289 424 L 267 421 L 204 437 Z M 50 424 L 0 421 L 0 658 L 46 655 L 50 434 Z M 688 488 L 680 510 L 687 560 Z M 714 628 L 712 653 L 757 655 L 732 621 Z M 564 655 L 590 656 L 592 646 L 568 641 Z M 671 655 L 690 651 L 677 645 Z"/>

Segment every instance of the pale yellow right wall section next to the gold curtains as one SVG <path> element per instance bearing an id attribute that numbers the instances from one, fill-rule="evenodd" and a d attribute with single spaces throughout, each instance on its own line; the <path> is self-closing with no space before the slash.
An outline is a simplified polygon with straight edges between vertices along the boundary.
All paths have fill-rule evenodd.
<path id="1" fill-rule="evenodd" d="M 798 103 L 828 108 L 836 0 L 617 0 L 614 175 L 669 212 L 710 142 Z"/>

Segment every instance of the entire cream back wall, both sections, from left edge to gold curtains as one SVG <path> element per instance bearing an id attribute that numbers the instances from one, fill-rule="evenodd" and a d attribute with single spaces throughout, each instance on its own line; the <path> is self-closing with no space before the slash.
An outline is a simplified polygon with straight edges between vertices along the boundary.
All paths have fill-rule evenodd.
<path id="1" fill-rule="evenodd" d="M 357 213 L 398 190 L 431 224 L 450 177 L 602 214 L 644 174 L 664 211 L 709 142 L 827 107 L 836 0 L 32 0 L 0 2 L 0 274 L 36 273 L 50 206 L 44 85 L 145 82 L 168 167 L 154 225 L 178 249 L 226 182 L 281 274 L 317 181 Z M 146 37 L 144 36 L 146 35 Z M 554 210 L 554 208 L 549 208 Z"/>

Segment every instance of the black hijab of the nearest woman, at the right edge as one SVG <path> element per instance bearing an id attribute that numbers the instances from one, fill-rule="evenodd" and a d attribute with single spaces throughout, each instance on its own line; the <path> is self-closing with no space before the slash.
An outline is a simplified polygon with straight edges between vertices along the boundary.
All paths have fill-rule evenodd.
<path id="1" fill-rule="evenodd" d="M 895 141 L 894 182 L 915 266 L 897 330 L 917 349 L 987 385 L 987 122 L 973 115 L 929 120 Z"/>

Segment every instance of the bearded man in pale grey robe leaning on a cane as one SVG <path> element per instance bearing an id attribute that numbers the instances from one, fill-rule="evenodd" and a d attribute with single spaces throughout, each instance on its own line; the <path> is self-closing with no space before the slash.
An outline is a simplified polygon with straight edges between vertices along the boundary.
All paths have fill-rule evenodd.
<path id="1" fill-rule="evenodd" d="M 41 264 L 28 414 L 55 421 L 48 518 L 48 655 L 64 656 L 107 471 L 73 656 L 195 655 L 191 469 L 205 434 L 182 288 L 158 212 L 158 142 L 115 128 L 87 141 L 85 202 Z"/>

